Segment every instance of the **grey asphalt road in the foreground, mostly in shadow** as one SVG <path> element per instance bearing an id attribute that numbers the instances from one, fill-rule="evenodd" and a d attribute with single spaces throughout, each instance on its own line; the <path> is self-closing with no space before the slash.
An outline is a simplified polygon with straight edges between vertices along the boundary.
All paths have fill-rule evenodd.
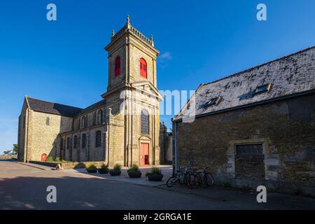
<path id="1" fill-rule="evenodd" d="M 57 203 L 47 202 L 48 186 L 57 188 Z M 0 209 L 303 209 L 303 205 L 311 209 L 311 204 L 315 204 L 314 199 L 300 197 L 295 200 L 302 207 L 296 202 L 286 204 L 286 200 L 283 202 L 286 196 L 282 195 L 278 196 L 276 207 L 267 207 L 255 202 L 255 195 L 250 193 L 213 188 L 212 193 L 221 195 L 218 199 L 181 189 L 165 190 L 89 174 L 0 162 Z"/>

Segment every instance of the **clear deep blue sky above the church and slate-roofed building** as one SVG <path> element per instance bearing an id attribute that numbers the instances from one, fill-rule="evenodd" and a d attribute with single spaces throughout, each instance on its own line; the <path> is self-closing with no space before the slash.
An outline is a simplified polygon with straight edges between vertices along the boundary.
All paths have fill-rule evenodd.
<path id="1" fill-rule="evenodd" d="M 55 3 L 57 21 L 46 20 Z M 267 21 L 256 20 L 265 3 Z M 160 90 L 195 90 L 315 45 L 315 1 L 1 1 L 0 153 L 17 142 L 24 94 L 85 107 L 107 87 L 111 30 L 154 35 Z M 170 127 L 172 116 L 162 116 Z"/>

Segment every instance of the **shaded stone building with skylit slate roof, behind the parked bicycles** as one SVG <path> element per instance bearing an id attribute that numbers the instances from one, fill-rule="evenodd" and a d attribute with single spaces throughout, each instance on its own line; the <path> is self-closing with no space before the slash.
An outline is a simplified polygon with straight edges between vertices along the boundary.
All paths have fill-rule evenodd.
<path id="1" fill-rule="evenodd" d="M 174 167 L 315 195 L 315 47 L 200 85 L 173 134 Z"/>

